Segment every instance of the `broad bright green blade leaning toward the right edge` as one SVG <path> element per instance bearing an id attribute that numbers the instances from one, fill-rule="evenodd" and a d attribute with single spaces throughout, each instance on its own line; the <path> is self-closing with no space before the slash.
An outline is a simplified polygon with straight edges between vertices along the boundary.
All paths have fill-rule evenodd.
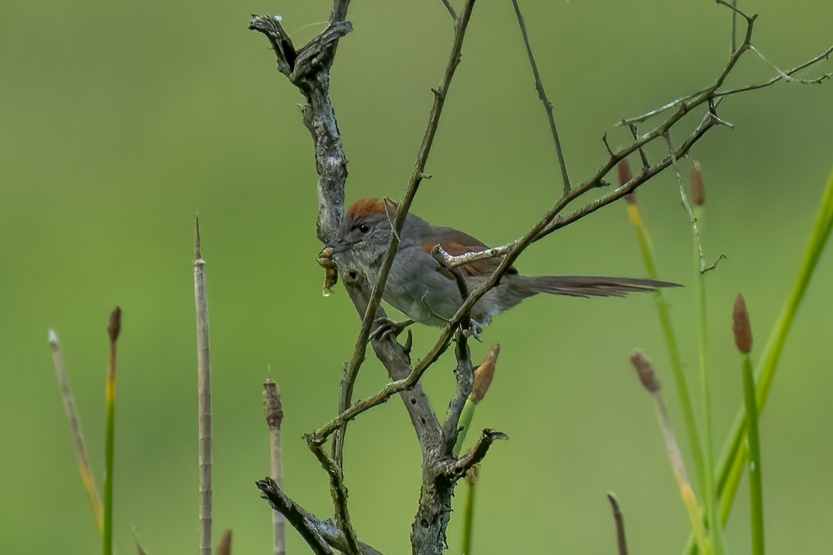
<path id="1" fill-rule="evenodd" d="M 756 366 L 756 410 L 758 414 L 763 412 L 766 405 L 766 399 L 772 387 L 772 380 L 775 379 L 778 363 L 781 361 L 786 338 L 790 334 L 801 301 L 804 300 L 807 285 L 816 271 L 821 252 L 831 235 L 831 228 L 833 228 L 833 173 L 827 180 L 827 186 L 821 199 L 821 209 L 816 217 L 816 224 L 813 226 L 796 285 L 793 287 L 784 309 L 781 310 L 781 315 L 778 316 L 776 324 L 772 327 L 761 360 Z M 735 501 L 746 461 L 746 445 L 743 442 L 743 436 L 746 433 L 745 414 L 745 406 L 741 406 L 731 426 L 729 438 L 726 440 L 718 463 L 720 473 L 717 480 L 717 493 L 721 499 L 721 520 L 724 524 L 729 520 L 732 503 Z M 689 538 L 688 543 L 686 543 L 684 553 L 696 553 L 696 545 L 691 540 L 692 538 Z"/>

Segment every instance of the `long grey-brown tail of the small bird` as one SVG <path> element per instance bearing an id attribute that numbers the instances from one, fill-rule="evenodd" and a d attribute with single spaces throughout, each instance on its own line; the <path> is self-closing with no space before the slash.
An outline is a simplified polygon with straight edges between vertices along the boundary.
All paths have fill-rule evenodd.
<path id="1" fill-rule="evenodd" d="M 519 276 L 520 277 L 520 276 Z M 628 293 L 656 291 L 661 287 L 681 287 L 678 283 L 638 278 L 614 278 L 596 275 L 542 275 L 523 277 L 516 286 L 529 295 L 549 293 L 571 297 L 624 297 Z"/>

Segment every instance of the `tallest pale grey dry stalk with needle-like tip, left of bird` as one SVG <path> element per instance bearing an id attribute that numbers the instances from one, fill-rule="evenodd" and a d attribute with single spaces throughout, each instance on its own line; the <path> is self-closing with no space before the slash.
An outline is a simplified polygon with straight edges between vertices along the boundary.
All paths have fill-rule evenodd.
<path id="1" fill-rule="evenodd" d="M 197 425 L 199 434 L 200 553 L 211 555 L 211 346 L 205 260 L 200 252 L 200 219 L 194 255 L 194 300 L 197 306 Z"/>

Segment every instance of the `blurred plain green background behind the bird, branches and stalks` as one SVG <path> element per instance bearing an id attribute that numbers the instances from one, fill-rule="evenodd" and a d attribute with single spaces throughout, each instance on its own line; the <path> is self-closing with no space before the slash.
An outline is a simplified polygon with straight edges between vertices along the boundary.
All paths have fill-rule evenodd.
<path id="1" fill-rule="evenodd" d="M 455 2 L 459 3 L 459 2 Z M 197 548 L 193 219 L 202 222 L 212 317 L 216 536 L 234 553 L 271 553 L 270 514 L 253 482 L 267 473 L 262 379 L 282 389 L 287 492 L 331 514 L 327 480 L 301 435 L 337 405 L 359 320 L 340 287 L 325 299 L 316 264 L 315 166 L 298 92 L 275 69 L 250 12 L 278 12 L 297 43 L 330 3 L 22 2 L 0 6 L 0 522 L 4 553 L 97 553 L 57 392 L 47 330 L 62 339 L 93 467 L 103 467 L 107 315 L 123 310 L 117 406 L 116 538 L 132 553 Z M 710 83 L 729 49 L 730 12 L 714 2 L 521 2 L 574 181 L 627 135 L 612 124 Z M 792 67 L 831 44 L 833 4 L 741 1 L 761 12 L 756 46 Z M 439 0 L 354 2 L 355 31 L 332 72 L 350 179 L 347 196 L 398 198 L 446 63 L 451 20 Z M 309 27 L 305 27 L 309 26 Z M 297 31 L 295 31 L 298 29 Z M 830 62 L 816 71 L 833 71 Z M 774 75 L 749 55 L 735 84 Z M 758 354 L 796 276 L 831 170 L 833 88 L 787 84 L 731 97 L 692 152 L 707 187 L 716 433 L 741 401 L 731 305 L 742 291 Z M 682 132 L 673 138 L 681 140 Z M 657 159 L 661 149 L 651 152 Z M 635 161 L 636 163 L 636 161 Z M 541 103 L 510 2 L 476 5 L 413 211 L 499 244 L 526 230 L 561 189 Z M 639 198 L 661 275 L 691 285 L 691 230 L 666 172 Z M 527 274 L 644 275 L 623 204 L 527 251 Z M 825 553 L 833 374 L 829 284 L 821 260 L 762 419 L 772 553 Z M 692 288 L 674 290 L 696 389 Z M 414 354 L 436 330 L 415 330 Z M 605 493 L 625 511 L 633 553 L 677 553 L 686 513 L 651 399 L 628 364 L 646 349 L 669 364 L 651 298 L 541 298 L 496 320 L 473 345 L 501 358 L 476 427 L 506 432 L 481 472 L 475 553 L 615 553 Z M 424 384 L 436 409 L 453 386 L 446 356 Z M 368 359 L 358 394 L 386 383 Z M 419 450 L 392 401 L 351 427 L 346 478 L 363 540 L 406 553 Z M 716 448 L 720 448 L 717 445 Z M 687 450 L 686 450 L 687 451 Z M 693 474 L 693 467 L 690 465 Z M 747 553 L 745 486 L 728 530 Z M 462 496 L 457 502 L 461 505 Z M 460 515 L 452 515 L 451 551 Z M 294 532 L 290 553 L 307 553 Z"/>

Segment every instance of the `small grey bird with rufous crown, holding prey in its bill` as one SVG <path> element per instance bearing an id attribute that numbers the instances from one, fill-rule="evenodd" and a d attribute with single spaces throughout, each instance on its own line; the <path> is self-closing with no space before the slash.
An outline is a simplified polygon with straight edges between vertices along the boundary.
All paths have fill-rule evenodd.
<path id="1" fill-rule="evenodd" d="M 337 237 L 322 250 L 332 257 L 344 274 L 358 271 L 368 282 L 376 283 L 391 241 L 397 205 L 391 201 L 364 199 L 348 210 Z M 471 235 L 451 227 L 436 227 L 409 213 L 399 234 L 399 248 L 393 259 L 383 299 L 425 325 L 444 326 L 463 302 L 461 288 L 452 270 L 441 265 L 431 254 L 436 245 L 450 255 L 486 250 L 488 247 Z M 500 265 L 501 258 L 476 260 L 458 266 L 459 275 L 471 291 L 483 284 Z M 498 284 L 471 307 L 475 335 L 482 326 L 521 300 L 538 293 L 571 297 L 621 297 L 658 287 L 679 287 L 667 281 L 588 275 L 520 275 L 512 267 Z M 399 331 L 399 330 L 397 330 Z"/>

